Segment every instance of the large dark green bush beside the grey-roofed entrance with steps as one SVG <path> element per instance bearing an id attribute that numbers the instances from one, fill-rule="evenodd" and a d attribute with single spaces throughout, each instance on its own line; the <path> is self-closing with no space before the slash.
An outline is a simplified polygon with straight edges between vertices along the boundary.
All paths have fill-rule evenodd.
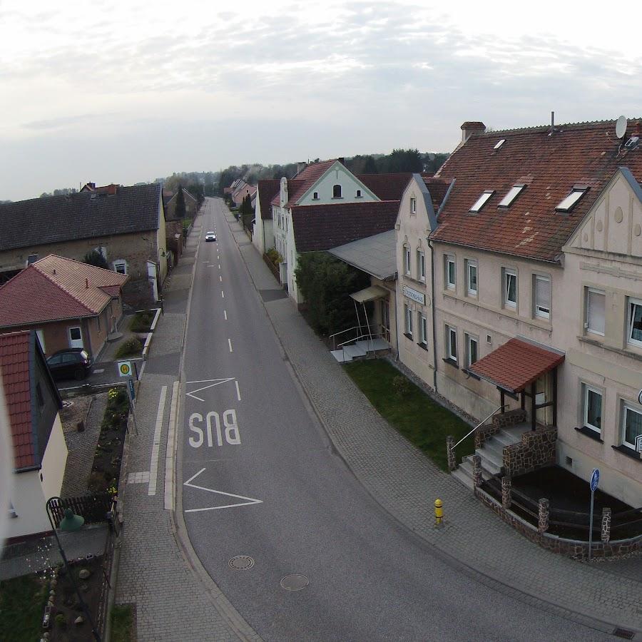
<path id="1" fill-rule="evenodd" d="M 370 277 L 325 252 L 300 255 L 295 279 L 312 327 L 324 335 L 355 325 L 350 294 L 370 285 Z"/>

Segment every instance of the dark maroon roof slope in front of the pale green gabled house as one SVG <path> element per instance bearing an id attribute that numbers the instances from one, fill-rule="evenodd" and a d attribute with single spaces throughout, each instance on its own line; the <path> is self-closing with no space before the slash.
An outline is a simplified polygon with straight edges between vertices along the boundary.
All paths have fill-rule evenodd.
<path id="1" fill-rule="evenodd" d="M 394 228 L 398 201 L 299 205 L 292 208 L 297 252 L 329 250 Z"/>

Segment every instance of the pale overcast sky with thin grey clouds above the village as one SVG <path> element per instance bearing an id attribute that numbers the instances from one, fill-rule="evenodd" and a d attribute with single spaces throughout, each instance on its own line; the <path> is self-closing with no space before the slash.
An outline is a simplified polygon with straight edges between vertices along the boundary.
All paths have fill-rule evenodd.
<path id="1" fill-rule="evenodd" d="M 0 200 L 642 116 L 623 5 L 582 6 L 0 0 Z"/>

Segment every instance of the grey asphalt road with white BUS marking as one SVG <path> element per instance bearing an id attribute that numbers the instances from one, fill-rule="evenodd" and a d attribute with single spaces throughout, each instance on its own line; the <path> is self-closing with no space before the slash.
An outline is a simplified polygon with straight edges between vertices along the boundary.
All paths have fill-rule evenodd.
<path id="1" fill-rule="evenodd" d="M 203 215 L 184 375 L 188 534 L 264 640 L 607 639 L 478 584 L 367 494 L 295 384 L 216 199 Z M 233 569 L 237 556 L 253 566 Z M 292 574 L 309 584 L 282 588 Z"/>

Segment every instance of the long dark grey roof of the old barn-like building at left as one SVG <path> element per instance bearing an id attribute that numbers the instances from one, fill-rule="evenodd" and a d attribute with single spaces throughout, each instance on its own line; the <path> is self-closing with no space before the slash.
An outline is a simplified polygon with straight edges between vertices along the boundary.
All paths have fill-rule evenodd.
<path id="1" fill-rule="evenodd" d="M 0 205 L 0 250 L 158 230 L 161 185 L 78 192 Z"/>

